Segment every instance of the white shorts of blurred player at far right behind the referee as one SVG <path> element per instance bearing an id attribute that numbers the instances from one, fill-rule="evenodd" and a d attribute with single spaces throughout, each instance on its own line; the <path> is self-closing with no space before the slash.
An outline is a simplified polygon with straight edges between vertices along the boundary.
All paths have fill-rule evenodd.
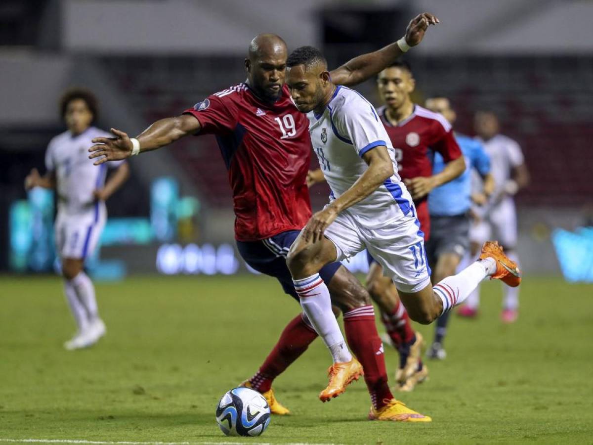
<path id="1" fill-rule="evenodd" d="M 505 249 L 517 246 L 517 211 L 512 198 L 506 197 L 492 206 L 486 217 L 471 225 L 470 240 L 482 244 L 487 240 L 498 241 Z"/>

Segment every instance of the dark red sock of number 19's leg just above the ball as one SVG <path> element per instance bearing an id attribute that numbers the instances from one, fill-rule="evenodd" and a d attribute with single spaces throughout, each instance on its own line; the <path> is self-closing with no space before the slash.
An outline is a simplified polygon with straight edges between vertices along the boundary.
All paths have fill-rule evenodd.
<path id="1" fill-rule="evenodd" d="M 262 367 L 249 379 L 253 389 L 262 393 L 270 390 L 273 380 L 307 351 L 315 338 L 317 333 L 304 322 L 301 314 L 294 317 L 280 334 L 278 342 Z"/>

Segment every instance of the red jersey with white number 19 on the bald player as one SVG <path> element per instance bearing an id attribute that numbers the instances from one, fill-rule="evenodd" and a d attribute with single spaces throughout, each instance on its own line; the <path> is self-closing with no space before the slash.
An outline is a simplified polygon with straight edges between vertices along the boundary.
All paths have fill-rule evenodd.
<path id="1" fill-rule="evenodd" d="M 184 113 L 199 120 L 199 135 L 216 135 L 231 183 L 238 241 L 266 239 L 307 224 L 309 121 L 292 103 L 286 85 L 273 104 L 243 83 Z"/>

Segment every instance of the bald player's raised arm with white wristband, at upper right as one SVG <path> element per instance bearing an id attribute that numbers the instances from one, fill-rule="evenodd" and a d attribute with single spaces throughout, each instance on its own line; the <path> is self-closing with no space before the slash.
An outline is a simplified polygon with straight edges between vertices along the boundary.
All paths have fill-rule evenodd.
<path id="1" fill-rule="evenodd" d="M 349 87 L 379 74 L 406 52 L 408 47 L 422 42 L 428 27 L 437 23 L 439 19 L 428 12 L 417 15 L 408 24 L 404 37 L 380 50 L 355 57 L 334 69 L 330 72 L 331 81 L 336 85 Z"/>

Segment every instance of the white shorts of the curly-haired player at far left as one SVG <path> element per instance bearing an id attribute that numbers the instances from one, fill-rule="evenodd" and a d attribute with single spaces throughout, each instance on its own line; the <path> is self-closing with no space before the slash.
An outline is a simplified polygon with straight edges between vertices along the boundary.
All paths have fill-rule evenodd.
<path id="1" fill-rule="evenodd" d="M 104 205 L 97 206 L 97 209 L 88 214 L 69 215 L 58 212 L 55 235 L 60 258 L 85 259 L 90 256 L 97 247 L 106 216 Z"/>

